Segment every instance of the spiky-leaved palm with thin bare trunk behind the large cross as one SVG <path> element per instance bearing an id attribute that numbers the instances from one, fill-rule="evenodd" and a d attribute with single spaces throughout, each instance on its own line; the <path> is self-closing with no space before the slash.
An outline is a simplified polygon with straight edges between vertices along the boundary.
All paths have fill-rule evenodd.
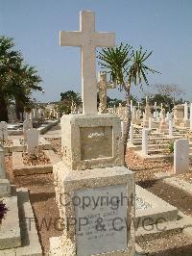
<path id="1" fill-rule="evenodd" d="M 131 125 L 131 86 L 139 84 L 142 87 L 143 82 L 149 85 L 147 75 L 150 72 L 158 73 L 145 64 L 151 55 L 152 52 L 148 53 L 141 46 L 138 50 L 133 50 L 131 45 L 123 43 L 114 48 L 102 48 L 98 55 L 98 63 L 107 70 L 110 81 L 126 92 L 128 121 L 123 135 L 125 155 Z"/>

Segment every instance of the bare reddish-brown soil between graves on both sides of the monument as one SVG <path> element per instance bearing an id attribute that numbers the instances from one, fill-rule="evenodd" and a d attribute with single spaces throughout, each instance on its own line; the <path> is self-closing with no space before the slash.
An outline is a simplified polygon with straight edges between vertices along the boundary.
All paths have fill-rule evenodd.
<path id="1" fill-rule="evenodd" d="M 56 129 L 55 131 L 59 130 Z M 55 151 L 60 155 L 60 139 L 52 139 L 50 141 Z M 184 214 L 192 215 L 192 197 L 155 179 L 155 172 L 171 171 L 173 164 L 165 162 L 156 163 L 156 165 L 145 163 L 132 150 L 128 151 L 126 160 L 128 166 L 135 172 L 137 184 L 178 207 Z M 44 255 L 47 255 L 49 251 L 49 238 L 60 236 L 61 234 L 58 228 L 58 218 L 60 216 L 55 202 L 53 175 L 39 174 L 14 178 L 12 175 L 12 155 L 6 157 L 6 166 L 12 184 L 15 184 L 17 188 L 25 187 L 30 190 L 30 199 L 35 212 L 40 243 Z M 192 241 L 180 233 L 170 233 L 163 238 L 154 237 L 153 240 L 149 238 L 149 240 L 139 242 L 139 244 L 150 253 L 149 255 L 192 255 Z"/>

